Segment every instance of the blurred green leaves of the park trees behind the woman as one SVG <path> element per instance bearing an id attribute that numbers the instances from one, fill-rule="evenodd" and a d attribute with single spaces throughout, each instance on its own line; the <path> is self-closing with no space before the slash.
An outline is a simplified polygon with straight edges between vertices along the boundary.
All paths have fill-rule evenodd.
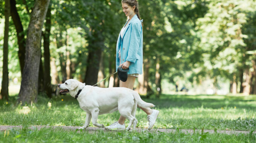
<path id="1" fill-rule="evenodd" d="M 34 2 L 16 0 L 25 35 Z M 144 20 L 144 64 L 149 65 L 149 76 L 145 80 L 153 90 L 157 88 L 157 62 L 160 64 L 161 84 L 181 81 L 196 85 L 212 79 L 216 89 L 220 87 L 219 79 L 232 80 L 233 76 L 239 77 L 243 69 L 252 67 L 251 60 L 255 56 L 248 55 L 247 51 L 256 50 L 254 0 L 138 2 L 140 17 Z M 120 0 L 52 0 L 51 3 L 50 50 L 60 81 L 65 78 L 67 52 L 70 52 L 72 78 L 84 79 L 87 57 L 96 48 L 103 52 L 104 76 L 113 73 L 116 42 L 126 21 Z M 4 1 L 0 2 L 2 29 L 4 4 Z M 17 35 L 12 20 L 9 29 L 9 76 L 20 81 Z M 0 49 L 2 41 L 3 32 L 0 31 Z"/>

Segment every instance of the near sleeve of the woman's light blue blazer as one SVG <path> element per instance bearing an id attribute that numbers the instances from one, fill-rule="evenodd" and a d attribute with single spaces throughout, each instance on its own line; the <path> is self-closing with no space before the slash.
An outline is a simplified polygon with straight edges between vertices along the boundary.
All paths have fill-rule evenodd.
<path id="1" fill-rule="evenodd" d="M 130 44 L 126 61 L 136 62 L 141 32 L 142 26 L 140 23 L 131 23 Z"/>

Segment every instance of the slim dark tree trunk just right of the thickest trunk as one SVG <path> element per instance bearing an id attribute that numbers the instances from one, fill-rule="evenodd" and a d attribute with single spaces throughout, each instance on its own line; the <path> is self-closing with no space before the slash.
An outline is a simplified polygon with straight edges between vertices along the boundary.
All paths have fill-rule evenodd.
<path id="1" fill-rule="evenodd" d="M 51 67 L 50 67 L 50 35 L 51 35 L 51 4 L 46 13 L 44 38 L 44 91 L 49 98 L 52 97 L 51 90 Z"/>

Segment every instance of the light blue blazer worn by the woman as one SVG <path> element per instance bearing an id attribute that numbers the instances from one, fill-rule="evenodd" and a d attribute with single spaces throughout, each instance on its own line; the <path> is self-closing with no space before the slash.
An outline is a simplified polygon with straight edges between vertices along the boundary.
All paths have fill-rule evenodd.
<path id="1" fill-rule="evenodd" d="M 126 21 L 127 23 L 127 21 Z M 125 24 L 126 25 L 126 24 Z M 124 25 L 124 26 L 125 26 Z M 141 21 L 135 14 L 124 29 L 124 36 L 121 38 L 121 32 L 117 40 L 116 52 L 116 71 L 120 64 L 130 61 L 128 74 L 142 74 L 143 67 L 143 33 Z M 119 57 L 121 55 L 121 63 Z"/>

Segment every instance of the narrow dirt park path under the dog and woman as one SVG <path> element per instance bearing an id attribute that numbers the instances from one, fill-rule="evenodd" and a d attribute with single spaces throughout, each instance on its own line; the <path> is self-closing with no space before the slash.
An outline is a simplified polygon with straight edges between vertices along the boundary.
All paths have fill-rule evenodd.
<path id="1" fill-rule="evenodd" d="M 6 130 L 10 130 L 10 129 L 21 129 L 22 126 L 0 126 L 0 131 L 6 131 Z M 53 129 L 64 129 L 64 130 L 67 130 L 67 131 L 75 131 L 76 129 L 79 128 L 79 126 L 29 126 L 28 127 L 29 129 L 41 129 L 41 128 L 53 128 Z M 95 131 L 108 131 L 108 130 L 105 130 L 104 128 L 98 128 L 98 127 L 88 127 L 86 129 L 87 131 L 89 132 L 95 132 Z M 136 131 L 137 132 L 144 132 L 144 131 L 148 131 L 147 129 L 145 128 L 136 128 Z M 185 134 L 192 134 L 194 133 L 194 130 L 193 129 L 179 129 L 180 132 L 184 132 Z M 156 132 L 156 133 L 159 133 L 159 132 L 177 132 L 176 129 L 151 129 L 150 131 L 148 132 Z M 195 132 L 202 132 L 201 129 L 196 129 Z M 204 130 L 204 132 L 209 132 L 211 134 L 214 133 L 214 130 Z M 249 134 L 250 131 L 229 131 L 229 130 L 217 130 L 218 133 L 221 133 L 221 134 Z M 256 134 L 256 131 L 253 132 L 253 134 Z"/>

